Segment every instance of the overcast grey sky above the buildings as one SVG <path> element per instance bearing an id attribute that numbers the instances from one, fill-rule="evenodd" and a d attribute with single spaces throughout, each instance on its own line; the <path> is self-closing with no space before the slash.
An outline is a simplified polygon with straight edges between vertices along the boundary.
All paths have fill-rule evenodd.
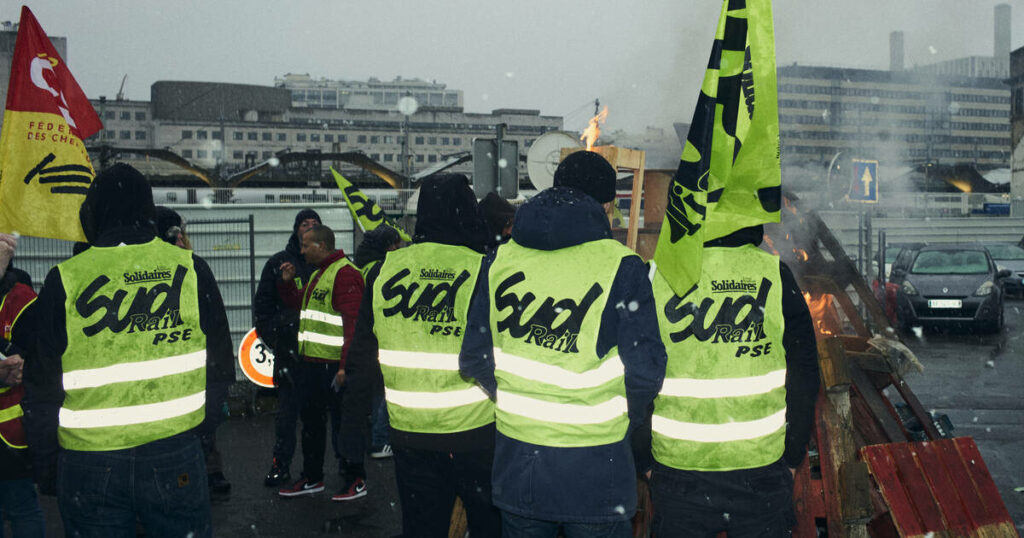
<path id="1" fill-rule="evenodd" d="M 0 20 L 23 2 L 0 0 Z M 889 33 L 906 65 L 991 55 L 993 6 L 1024 0 L 779 0 L 779 65 L 887 69 Z M 90 97 L 148 99 L 157 80 L 272 84 L 274 76 L 436 80 L 468 112 L 540 109 L 579 130 L 594 97 L 607 128 L 688 122 L 719 0 L 44 0 L 29 6 L 68 38 Z"/>

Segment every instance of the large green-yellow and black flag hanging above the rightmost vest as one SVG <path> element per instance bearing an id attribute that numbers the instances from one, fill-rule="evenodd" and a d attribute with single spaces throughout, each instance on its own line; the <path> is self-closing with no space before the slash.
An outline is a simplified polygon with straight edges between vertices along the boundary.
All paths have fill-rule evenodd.
<path id="1" fill-rule="evenodd" d="M 699 278 L 706 241 L 778 221 L 780 185 L 771 0 L 725 0 L 654 250 L 676 294 Z"/>

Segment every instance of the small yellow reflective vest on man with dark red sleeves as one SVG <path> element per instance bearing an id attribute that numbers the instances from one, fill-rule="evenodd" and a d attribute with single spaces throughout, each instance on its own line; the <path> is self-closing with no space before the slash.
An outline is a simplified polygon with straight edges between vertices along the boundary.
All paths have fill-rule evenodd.
<path id="1" fill-rule="evenodd" d="M 309 282 L 316 284 L 302 295 L 302 311 L 299 313 L 299 355 L 325 361 L 341 361 L 341 349 L 345 345 L 345 324 L 334 309 L 334 281 L 338 272 L 350 266 L 348 259 L 341 257 L 325 270 L 316 270 Z M 319 279 L 316 276 L 319 275 Z M 308 286 L 308 285 L 307 285 Z"/>

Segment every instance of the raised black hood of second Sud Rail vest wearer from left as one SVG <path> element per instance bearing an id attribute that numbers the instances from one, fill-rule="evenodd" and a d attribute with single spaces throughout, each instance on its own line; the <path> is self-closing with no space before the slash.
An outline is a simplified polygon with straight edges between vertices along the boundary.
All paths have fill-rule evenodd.
<path id="1" fill-rule="evenodd" d="M 483 252 L 486 238 L 486 225 L 476 212 L 476 196 L 465 175 L 437 174 L 423 180 L 414 243 L 461 245 Z"/>

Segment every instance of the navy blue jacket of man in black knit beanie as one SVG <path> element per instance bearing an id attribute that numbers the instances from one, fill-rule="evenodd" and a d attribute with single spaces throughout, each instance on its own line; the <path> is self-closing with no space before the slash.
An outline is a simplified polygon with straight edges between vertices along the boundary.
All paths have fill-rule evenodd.
<path id="1" fill-rule="evenodd" d="M 569 188 L 553 188 L 530 199 L 516 213 L 512 239 L 520 246 L 558 250 L 611 238 L 601 206 Z M 501 247 L 499 247 L 499 251 Z M 484 258 L 469 308 L 459 367 L 489 394 L 496 394 L 494 343 L 489 330 L 490 297 Z M 552 272 L 580 272 L 563 266 Z M 665 346 L 657 329 L 654 297 L 644 262 L 623 259 L 601 315 L 595 353 L 604 356 L 618 346 L 626 371 L 630 424 L 644 419 L 665 378 Z M 497 434 L 493 478 L 495 505 L 531 519 L 600 523 L 627 520 L 636 511 L 636 469 L 630 434 L 618 443 L 597 447 L 555 448 L 523 443 Z"/>

